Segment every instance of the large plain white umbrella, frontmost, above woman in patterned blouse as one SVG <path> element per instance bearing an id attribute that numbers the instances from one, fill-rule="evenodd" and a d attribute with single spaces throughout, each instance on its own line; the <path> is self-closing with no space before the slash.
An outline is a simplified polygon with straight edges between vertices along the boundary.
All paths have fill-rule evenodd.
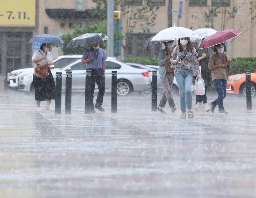
<path id="1" fill-rule="evenodd" d="M 182 37 L 189 37 L 191 42 L 196 42 L 201 37 L 193 30 L 183 27 L 170 27 L 158 32 L 151 41 L 162 41 L 162 40 L 177 40 Z"/>

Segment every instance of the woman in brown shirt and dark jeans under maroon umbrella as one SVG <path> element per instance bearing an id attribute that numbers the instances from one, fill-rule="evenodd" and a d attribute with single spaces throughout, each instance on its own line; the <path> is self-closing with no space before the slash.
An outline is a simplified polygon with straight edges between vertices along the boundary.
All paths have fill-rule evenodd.
<path id="1" fill-rule="evenodd" d="M 223 99 L 226 97 L 226 87 L 228 80 L 228 65 L 231 59 L 224 52 L 224 45 L 218 44 L 214 46 L 215 53 L 210 56 L 208 67 L 211 71 L 212 81 L 218 93 L 218 98 L 211 102 L 211 111 L 214 113 L 215 107 L 218 105 L 219 114 L 228 114 L 223 107 Z"/>

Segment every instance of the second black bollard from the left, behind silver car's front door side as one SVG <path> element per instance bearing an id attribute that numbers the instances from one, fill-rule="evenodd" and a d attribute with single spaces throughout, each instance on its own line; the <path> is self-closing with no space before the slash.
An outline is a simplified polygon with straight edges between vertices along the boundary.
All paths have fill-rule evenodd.
<path id="1" fill-rule="evenodd" d="M 72 72 L 66 70 L 65 114 L 71 114 Z"/>

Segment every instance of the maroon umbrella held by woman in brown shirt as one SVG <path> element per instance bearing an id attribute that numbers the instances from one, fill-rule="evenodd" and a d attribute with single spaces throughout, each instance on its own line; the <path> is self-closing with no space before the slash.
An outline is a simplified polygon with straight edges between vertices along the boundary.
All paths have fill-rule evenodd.
<path id="1" fill-rule="evenodd" d="M 208 48 L 208 47 L 215 46 L 217 44 L 224 43 L 227 40 L 237 37 L 240 33 L 241 32 L 235 29 L 229 29 L 229 30 L 223 30 L 223 31 L 217 32 L 207 37 L 205 40 L 203 40 L 199 46 L 199 49 Z"/>

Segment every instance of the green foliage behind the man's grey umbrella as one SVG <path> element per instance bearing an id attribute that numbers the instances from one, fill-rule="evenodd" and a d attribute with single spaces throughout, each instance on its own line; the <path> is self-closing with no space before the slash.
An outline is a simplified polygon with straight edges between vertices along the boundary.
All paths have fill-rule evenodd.
<path id="1" fill-rule="evenodd" d="M 88 46 L 81 46 L 81 47 L 66 47 L 68 42 L 75 37 L 78 37 L 85 33 L 103 33 L 107 35 L 107 22 L 102 21 L 98 23 L 88 24 L 85 23 L 82 27 L 77 26 L 75 27 L 75 31 L 72 33 L 68 33 L 61 36 L 61 39 L 65 42 L 62 47 L 63 54 L 82 54 L 84 49 L 87 49 Z M 122 35 L 121 32 L 115 32 L 114 39 L 121 39 Z M 107 47 L 106 41 L 100 43 L 100 47 L 105 49 Z"/>

